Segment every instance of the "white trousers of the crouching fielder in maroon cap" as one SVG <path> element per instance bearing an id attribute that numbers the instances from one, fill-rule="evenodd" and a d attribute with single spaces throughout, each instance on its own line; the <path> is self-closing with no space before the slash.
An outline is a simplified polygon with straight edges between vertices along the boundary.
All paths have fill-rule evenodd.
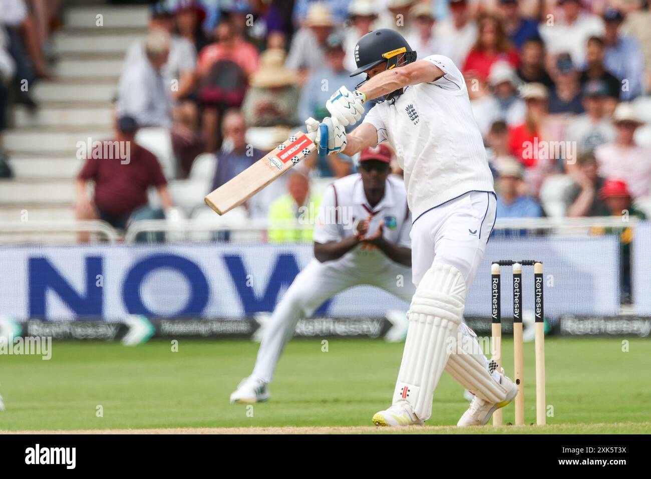
<path id="1" fill-rule="evenodd" d="M 320 263 L 312 259 L 307 267 L 299 272 L 273 311 L 260 343 L 253 376 L 271 382 L 284 346 L 294 336 L 298 320 L 310 317 L 324 301 L 344 289 L 367 284 L 410 302 L 414 287 L 409 283 L 409 274 L 408 267 L 389 261 L 383 270 L 362 275 L 350 269 L 338 269 L 333 261 Z M 402 275 L 404 280 L 399 281 L 398 275 Z M 360 302 L 372 300 L 359 298 Z"/>

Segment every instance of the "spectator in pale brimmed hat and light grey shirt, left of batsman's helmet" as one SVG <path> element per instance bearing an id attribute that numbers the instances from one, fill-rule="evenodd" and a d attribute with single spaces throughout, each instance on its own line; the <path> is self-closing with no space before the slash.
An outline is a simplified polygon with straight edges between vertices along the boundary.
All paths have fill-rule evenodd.
<path id="1" fill-rule="evenodd" d="M 298 85 L 304 85 L 309 72 L 318 70 L 326 61 L 326 41 L 334 27 L 335 20 L 327 4 L 311 3 L 287 55 L 286 66 L 297 72 Z"/>

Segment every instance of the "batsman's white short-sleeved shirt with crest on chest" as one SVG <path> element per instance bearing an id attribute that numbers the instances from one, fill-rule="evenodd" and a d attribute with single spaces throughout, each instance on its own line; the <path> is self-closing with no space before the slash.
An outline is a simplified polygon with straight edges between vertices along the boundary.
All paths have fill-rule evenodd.
<path id="1" fill-rule="evenodd" d="M 423 60 L 445 75 L 406 87 L 394 104 L 377 104 L 364 119 L 378 130 L 378 143 L 387 140 L 396 152 L 414 221 L 464 193 L 494 192 L 464 77 L 448 57 Z"/>

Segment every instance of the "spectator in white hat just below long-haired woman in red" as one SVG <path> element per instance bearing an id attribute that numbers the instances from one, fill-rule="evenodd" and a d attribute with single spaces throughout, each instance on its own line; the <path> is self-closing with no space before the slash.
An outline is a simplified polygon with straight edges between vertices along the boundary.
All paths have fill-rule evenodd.
<path id="1" fill-rule="evenodd" d="M 506 63 L 494 63 L 488 76 L 488 83 L 497 100 L 497 117 L 509 125 L 521 124 L 527 109 L 524 100 L 518 94 L 518 77 L 516 70 Z"/>

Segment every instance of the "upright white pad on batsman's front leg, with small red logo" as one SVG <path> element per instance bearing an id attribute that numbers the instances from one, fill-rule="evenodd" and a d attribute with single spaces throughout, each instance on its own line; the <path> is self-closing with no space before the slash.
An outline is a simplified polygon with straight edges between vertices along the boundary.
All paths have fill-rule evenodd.
<path id="1" fill-rule="evenodd" d="M 464 314 L 465 280 L 458 269 L 434 263 L 411 300 L 409 329 L 393 394 L 406 401 L 421 420 L 432 415 L 434 389 L 449 356 L 449 338 Z"/>

